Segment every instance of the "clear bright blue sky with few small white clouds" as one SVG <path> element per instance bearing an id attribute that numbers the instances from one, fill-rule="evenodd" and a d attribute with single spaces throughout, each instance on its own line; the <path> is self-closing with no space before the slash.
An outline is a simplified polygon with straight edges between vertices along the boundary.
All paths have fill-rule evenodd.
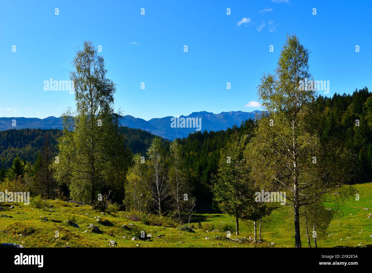
<path id="1" fill-rule="evenodd" d="M 74 106 L 73 94 L 44 91 L 44 81 L 68 80 L 88 39 L 102 46 L 115 107 L 145 120 L 260 109 L 246 105 L 287 32 L 311 51 L 310 72 L 330 81 L 328 96 L 371 88 L 371 10 L 370 0 L 1 1 L 0 117 L 60 116 Z"/>

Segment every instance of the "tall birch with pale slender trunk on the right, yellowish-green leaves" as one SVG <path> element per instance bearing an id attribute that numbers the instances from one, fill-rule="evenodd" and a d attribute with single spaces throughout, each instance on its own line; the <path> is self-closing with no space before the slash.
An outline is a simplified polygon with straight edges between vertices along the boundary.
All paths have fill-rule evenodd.
<path id="1" fill-rule="evenodd" d="M 267 112 L 248 144 L 252 175 L 286 192 L 286 205 L 294 213 L 295 247 L 301 247 L 300 207 L 347 182 L 345 173 L 352 162 L 350 152 L 343 149 L 334 150 L 333 162 L 322 157 L 320 125 L 313 109 L 317 92 L 311 84 L 302 85 L 312 79 L 308 60 L 308 49 L 296 35 L 287 35 L 275 74 L 265 73 L 258 86 Z"/>

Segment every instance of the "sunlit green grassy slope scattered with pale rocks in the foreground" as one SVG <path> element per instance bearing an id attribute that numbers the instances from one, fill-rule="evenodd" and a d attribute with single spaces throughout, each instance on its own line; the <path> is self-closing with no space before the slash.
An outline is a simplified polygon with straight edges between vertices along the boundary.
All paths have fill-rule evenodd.
<path id="1" fill-rule="evenodd" d="M 349 246 L 358 246 L 360 243 L 372 244 L 372 183 L 356 185 L 359 190 L 360 201 L 350 198 L 345 205 L 340 207 L 340 213 L 331 222 L 326 240 L 319 240 L 318 247 L 333 247 L 346 245 L 346 237 Z M 249 247 L 250 243 L 231 243 L 225 239 L 225 234 L 219 231 L 195 230 L 195 233 L 180 231 L 176 228 L 153 227 L 141 222 L 131 222 L 119 217 L 118 213 L 111 214 L 91 209 L 89 206 L 80 206 L 74 203 L 48 200 L 48 204 L 54 207 L 48 209 L 36 209 L 30 205 L 13 204 L 15 208 L 3 207 L 0 211 L 0 243 L 17 243 L 25 247 L 109 247 L 108 240 L 115 240 L 118 247 Z M 20 205 L 20 207 L 19 207 Z M 363 210 L 369 208 L 369 210 Z M 50 210 L 51 209 L 51 210 Z M 350 215 L 352 214 L 352 215 Z M 4 217 L 4 215 L 11 216 Z M 48 221 L 42 220 L 47 217 Z M 113 226 L 97 224 L 94 217 L 100 216 L 112 222 Z M 75 217 L 80 228 L 72 227 L 66 223 Z M 262 237 L 267 242 L 275 242 L 277 247 L 292 247 L 294 245 L 293 223 L 288 219 L 283 210 L 276 210 L 263 220 Z M 199 213 L 193 218 L 194 222 L 199 219 L 203 227 L 209 230 L 218 230 L 226 223 L 234 225 L 234 219 L 226 214 Z M 57 221 L 57 222 L 53 222 Z M 129 223 L 130 230 L 121 226 Z M 84 232 L 89 224 L 99 226 L 102 234 Z M 197 224 L 196 224 L 197 226 Z M 213 227 L 212 227 L 213 226 Z M 252 236 L 253 225 L 251 222 L 240 221 L 241 236 Z M 138 232 L 144 230 L 153 235 L 153 240 L 132 241 L 133 236 L 138 237 Z M 363 230 L 363 231 L 361 231 Z M 55 231 L 60 237 L 55 238 Z M 161 239 L 155 239 L 157 235 L 166 235 Z M 126 236 L 126 238 L 122 238 Z M 218 237 L 216 237 L 218 236 Z M 205 237 L 210 238 L 206 240 Z M 231 235 L 232 238 L 235 235 Z M 340 239 L 343 241 L 340 241 Z M 180 243 L 183 242 L 183 243 Z M 267 244 L 263 244 L 266 245 Z M 302 246 L 307 246 L 306 237 L 302 235 Z"/>

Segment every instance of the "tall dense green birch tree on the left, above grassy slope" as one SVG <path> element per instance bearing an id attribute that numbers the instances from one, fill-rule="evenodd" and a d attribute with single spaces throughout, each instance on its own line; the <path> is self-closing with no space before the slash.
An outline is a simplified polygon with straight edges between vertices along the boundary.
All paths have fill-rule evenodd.
<path id="1" fill-rule="evenodd" d="M 72 64 L 76 110 L 70 108 L 61 116 L 64 130 L 54 167 L 58 181 L 68 182 L 72 198 L 93 205 L 104 188 L 124 189 L 132 155 L 118 132 L 119 114 L 113 110 L 116 88 L 106 78 L 103 57 L 87 41 Z"/>

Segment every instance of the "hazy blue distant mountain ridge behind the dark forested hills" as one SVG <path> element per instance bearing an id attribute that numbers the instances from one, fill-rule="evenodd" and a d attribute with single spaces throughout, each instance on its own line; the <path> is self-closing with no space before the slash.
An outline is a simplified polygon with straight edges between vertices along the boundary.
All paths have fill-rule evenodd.
<path id="1" fill-rule="evenodd" d="M 193 112 L 182 118 L 201 118 L 201 131 L 220 131 L 231 128 L 234 124 L 240 126 L 241 122 L 249 118 L 256 118 L 262 113 L 259 110 L 253 112 L 230 111 L 214 114 L 211 112 L 201 111 Z M 123 116 L 120 119 L 122 126 L 128 126 L 134 129 L 142 129 L 152 134 L 163 137 L 164 139 L 173 140 L 177 137 L 187 137 L 189 133 L 196 130 L 193 128 L 171 127 L 171 116 L 163 118 L 151 118 L 146 121 L 142 118 L 136 118 L 130 115 Z M 178 118 L 178 117 L 177 117 Z M 16 126 L 12 126 L 13 120 L 16 120 Z M 0 117 L 0 130 L 9 129 L 62 129 L 62 122 L 59 117 L 50 116 L 47 118 L 25 118 L 25 117 Z"/>

